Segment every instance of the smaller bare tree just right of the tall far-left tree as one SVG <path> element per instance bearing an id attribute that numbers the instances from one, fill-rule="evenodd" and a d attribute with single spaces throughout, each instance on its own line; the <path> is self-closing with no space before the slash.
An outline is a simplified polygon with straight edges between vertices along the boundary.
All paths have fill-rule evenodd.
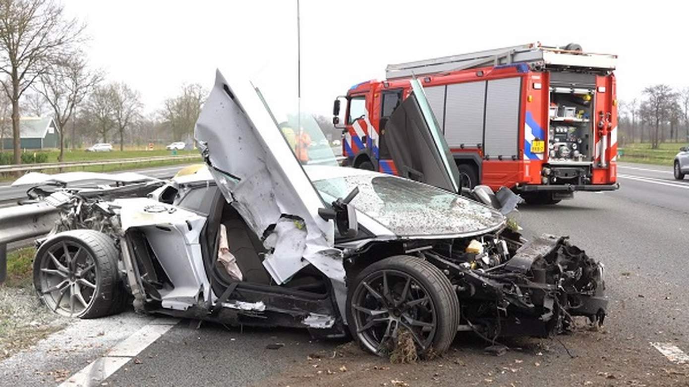
<path id="1" fill-rule="evenodd" d="M 50 105 L 59 129 L 60 161 L 65 153 L 64 133 L 74 109 L 103 79 L 101 72 L 88 70 L 82 58 L 83 54 L 79 53 L 72 58 L 56 61 L 50 67 L 50 72 L 41 74 L 40 83 L 34 85 L 34 90 Z"/>

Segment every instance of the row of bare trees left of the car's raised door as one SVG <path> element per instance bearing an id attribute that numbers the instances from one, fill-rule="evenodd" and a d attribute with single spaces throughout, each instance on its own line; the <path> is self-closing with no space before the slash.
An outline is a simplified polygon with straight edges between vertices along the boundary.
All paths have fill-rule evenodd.
<path id="1" fill-rule="evenodd" d="M 158 112 L 145 116 L 140 92 L 126 83 L 105 83 L 103 71 L 89 65 L 82 50 L 85 30 L 53 0 L 0 0 L 0 146 L 12 138 L 14 163 L 21 163 L 21 116 L 54 119 L 59 160 L 65 146 L 99 141 L 119 143 L 120 149 L 125 143 L 190 143 L 203 88 L 182 85 Z"/>

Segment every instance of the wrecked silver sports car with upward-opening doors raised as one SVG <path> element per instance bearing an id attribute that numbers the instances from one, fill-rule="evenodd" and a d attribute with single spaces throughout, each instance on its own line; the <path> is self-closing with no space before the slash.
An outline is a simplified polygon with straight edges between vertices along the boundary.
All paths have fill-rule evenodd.
<path id="1" fill-rule="evenodd" d="M 218 72 L 195 129 L 203 169 L 139 182 L 145 198 L 122 197 L 131 185 L 33 189 L 60 210 L 37 251 L 39 295 L 78 317 L 133 299 L 147 313 L 351 334 L 378 355 L 402 329 L 420 353 L 442 353 L 457 331 L 545 337 L 575 315 L 601 323 L 602 266 L 564 237 L 526 242 L 500 211 L 453 193 L 456 166 L 413 90 L 405 114 L 431 144 L 425 173 L 436 167 L 449 189 L 295 152 L 291 121 Z"/>

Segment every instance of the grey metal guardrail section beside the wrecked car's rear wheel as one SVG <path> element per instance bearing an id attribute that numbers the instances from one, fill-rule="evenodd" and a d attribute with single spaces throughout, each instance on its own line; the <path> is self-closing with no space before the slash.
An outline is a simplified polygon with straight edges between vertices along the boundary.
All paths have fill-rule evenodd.
<path id="1" fill-rule="evenodd" d="M 7 277 L 7 244 L 50 232 L 58 211 L 46 202 L 0 208 L 0 283 Z"/>

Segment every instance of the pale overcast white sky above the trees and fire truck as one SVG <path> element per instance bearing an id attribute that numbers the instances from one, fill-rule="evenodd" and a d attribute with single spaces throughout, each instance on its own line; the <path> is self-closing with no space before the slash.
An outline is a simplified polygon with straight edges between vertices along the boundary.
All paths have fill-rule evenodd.
<path id="1" fill-rule="evenodd" d="M 211 87 L 234 69 L 296 96 L 296 0 L 65 0 L 88 23 L 91 63 L 139 90 L 147 112 L 183 83 Z M 619 55 L 620 99 L 643 87 L 689 86 L 682 1 L 302 0 L 302 106 L 333 99 L 388 63 L 541 41 Z M 275 97 L 277 98 L 277 97 Z"/>

